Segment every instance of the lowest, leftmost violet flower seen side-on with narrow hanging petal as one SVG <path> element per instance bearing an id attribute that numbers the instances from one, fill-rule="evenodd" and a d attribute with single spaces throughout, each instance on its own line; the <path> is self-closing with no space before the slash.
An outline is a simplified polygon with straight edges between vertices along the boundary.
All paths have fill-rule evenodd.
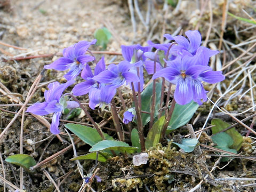
<path id="1" fill-rule="evenodd" d="M 45 90 L 44 98 L 45 102 L 35 103 L 34 105 L 28 107 L 26 112 L 33 113 L 35 115 L 47 115 L 53 113 L 52 124 L 50 131 L 53 134 L 59 134 L 59 119 L 61 111 L 65 108 L 77 108 L 79 104 L 75 101 L 66 101 L 61 98 L 62 92 L 71 84 L 74 80 L 68 81 L 64 84 L 59 84 L 58 82 L 53 82 L 48 85 L 49 90 Z"/>

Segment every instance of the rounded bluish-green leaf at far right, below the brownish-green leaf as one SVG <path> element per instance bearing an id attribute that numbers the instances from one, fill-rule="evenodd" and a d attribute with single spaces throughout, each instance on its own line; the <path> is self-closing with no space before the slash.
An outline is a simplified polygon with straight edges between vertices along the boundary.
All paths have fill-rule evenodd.
<path id="1" fill-rule="evenodd" d="M 230 149 L 230 146 L 233 145 L 233 139 L 227 133 L 217 133 L 212 136 L 212 140 L 217 146 L 215 148 L 226 150 L 232 153 L 237 153 L 235 149 Z M 227 154 L 224 154 L 227 155 Z M 229 161 L 229 158 L 224 157 L 221 159 L 222 162 Z"/>

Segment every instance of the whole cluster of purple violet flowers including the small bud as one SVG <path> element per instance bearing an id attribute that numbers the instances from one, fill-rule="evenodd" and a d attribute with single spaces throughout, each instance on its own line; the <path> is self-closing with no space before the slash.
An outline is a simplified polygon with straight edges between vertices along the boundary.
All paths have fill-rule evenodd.
<path id="1" fill-rule="evenodd" d="M 210 57 L 218 51 L 201 46 L 202 37 L 199 31 L 189 30 L 185 34 L 188 39 L 180 35 L 173 37 L 165 34 L 165 38 L 173 41 L 166 44 L 149 42 L 149 46 L 122 45 L 123 61 L 118 65 L 110 64 L 106 69 L 105 58 L 102 57 L 95 65 L 94 71 L 90 65 L 94 64 L 95 58 L 86 53 L 96 40 L 81 41 L 71 45 L 63 50 L 63 57 L 44 66 L 46 69 L 61 71 L 69 69 L 64 75 L 68 82 L 62 85 L 57 82 L 49 84 L 49 90 L 44 93 L 45 102 L 35 103 L 27 111 L 36 115 L 53 113 L 51 132 L 58 134 L 61 111 L 65 108 L 78 107 L 78 103 L 65 101 L 61 98 L 61 94 L 75 82 L 75 78 L 81 71 L 83 82 L 74 86 L 73 94 L 76 96 L 89 94 L 91 109 L 108 105 L 113 100 L 116 89 L 125 83 L 130 86 L 133 84 L 136 92 L 143 91 L 144 69 L 148 74 L 153 74 L 153 79 L 164 77 L 170 83 L 175 84 L 174 100 L 179 105 L 186 105 L 192 100 L 201 105 L 207 99 L 207 91 L 204 90 L 202 82 L 218 83 L 223 81 L 225 76 L 221 71 L 213 71 L 208 66 Z M 168 54 L 164 60 L 166 67 L 162 65 L 157 52 L 151 51 L 153 49 L 162 50 L 165 55 Z M 131 122 L 134 116 L 134 109 L 133 112 L 128 109 L 124 113 L 123 122 L 125 124 Z"/>

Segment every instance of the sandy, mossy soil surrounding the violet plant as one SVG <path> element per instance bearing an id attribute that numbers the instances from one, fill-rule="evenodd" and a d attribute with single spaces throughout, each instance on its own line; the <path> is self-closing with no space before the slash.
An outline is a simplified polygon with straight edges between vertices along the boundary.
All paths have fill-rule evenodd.
<path id="1" fill-rule="evenodd" d="M 146 1 L 138 1 L 142 15 L 145 17 L 147 12 Z M 182 34 L 182 31 L 198 29 L 201 31 L 203 39 L 207 36 L 207 30 L 211 26 L 210 41 L 207 46 L 211 49 L 217 49 L 221 36 L 222 26 L 222 7 L 225 1 L 210 1 L 209 4 L 199 1 L 182 1 L 179 10 L 168 5 L 167 11 L 164 1 L 154 0 L 154 10 L 150 15 L 149 30 L 142 25 L 138 15 L 135 13 L 137 23 L 137 33 L 134 34 L 129 12 L 129 6 L 126 1 L 118 0 L 94 0 L 94 1 L 61 1 L 61 0 L 0 0 L 0 40 L 1 42 L 26 48 L 20 50 L 15 47 L 6 46 L 0 43 L 0 82 L 1 90 L 6 87 L 9 92 L 0 95 L 1 105 L 17 104 L 18 100 L 25 102 L 28 91 L 35 81 L 35 78 L 43 70 L 43 66 L 47 65 L 60 57 L 63 48 L 68 47 L 78 41 L 92 41 L 94 39 L 95 30 L 107 27 L 113 37 L 107 44 L 106 51 L 121 53 L 120 46 L 139 43 L 143 46 L 147 45 L 150 39 L 154 43 L 162 43 L 164 41 L 163 34 Z M 174 1 L 175 2 L 175 1 Z M 208 1 L 207 1 L 208 2 Z M 231 1 L 228 5 L 228 11 L 239 15 L 239 17 L 248 18 L 242 11 L 245 10 L 252 18 L 255 18 L 255 2 L 252 1 Z M 210 15 L 213 14 L 212 24 L 210 24 Z M 250 18 L 249 18 L 250 19 Z M 255 21 L 255 20 L 254 20 Z M 222 42 L 222 48 L 217 58 L 217 64 L 211 61 L 211 66 L 215 69 L 221 69 L 222 65 L 227 64 L 234 58 L 237 58 L 244 51 L 249 49 L 253 43 L 247 43 L 239 46 L 238 49 L 230 48 L 232 44 L 239 44 L 255 40 L 255 25 L 244 21 L 237 20 L 227 16 L 225 33 Z M 93 45 L 92 50 L 101 51 L 102 47 Z M 255 48 L 250 51 L 252 55 Z M 50 55 L 46 55 L 50 54 Z M 245 56 L 250 56 L 245 54 Z M 41 56 L 39 56 L 41 55 Z M 43 56 L 42 56 L 43 55 Z M 97 59 L 103 54 L 97 54 Z M 25 59 L 13 60 L 13 57 Z M 36 58 L 26 58 L 30 56 L 38 56 Z M 106 62 L 118 62 L 122 60 L 120 55 L 105 54 Z M 227 68 L 223 73 L 235 69 L 246 61 L 246 57 L 236 62 L 235 65 Z M 250 66 L 255 63 L 255 59 L 251 61 Z M 248 65 L 247 65 L 248 66 Z M 251 81 L 254 85 L 254 72 L 251 71 Z M 43 73 L 39 89 L 30 99 L 30 103 L 43 102 L 44 90 L 52 81 L 65 82 L 62 78 L 63 73 L 50 70 Z M 229 84 L 235 84 L 240 81 L 243 76 L 239 76 L 233 82 L 233 77 L 227 77 L 225 85 L 217 87 L 213 93 L 212 100 L 215 101 L 219 95 L 223 93 L 223 89 Z M 243 99 L 239 99 L 241 94 L 250 88 L 250 81 L 247 79 L 242 86 L 235 88 L 225 96 L 220 106 L 225 107 L 231 113 L 241 113 L 249 109 L 246 113 L 237 116 L 244 119 L 254 113 L 250 110 L 253 105 L 251 93 L 244 95 Z M 241 88 L 242 87 L 242 88 Z M 212 87 L 208 87 L 210 91 Z M 239 94 L 233 98 L 233 94 L 242 89 Z M 71 90 L 71 89 L 70 89 Z M 252 94 L 255 89 L 252 91 Z M 10 96 L 13 95 L 13 96 Z M 18 99 L 17 99 L 18 98 Z M 230 98 L 230 100 L 229 100 Z M 87 102 L 86 97 L 79 99 Z M 127 100 L 127 102 L 129 102 Z M 119 105 L 119 103 L 117 103 Z M 197 110 L 190 123 L 195 121 L 196 116 L 201 113 L 200 118 L 195 121 L 195 131 L 202 128 L 207 115 L 209 114 L 211 103 L 205 103 Z M 1 106 L 0 111 L 0 130 L 1 132 L 9 124 L 14 117 L 12 112 L 17 112 L 20 106 Z M 110 117 L 109 113 L 98 114 L 98 111 L 90 111 L 95 121 L 100 122 Z M 51 117 L 51 115 L 49 116 Z M 214 111 L 212 118 L 221 118 L 230 124 L 236 123 L 230 116 L 219 111 Z M 86 117 L 71 119 L 81 123 L 89 123 Z M 210 121 L 209 121 L 210 122 Z M 252 119 L 244 122 L 250 126 Z M 207 126 L 210 123 L 207 123 Z M 10 155 L 20 154 L 20 126 L 21 117 L 18 117 L 10 129 L 4 134 L 0 140 L 0 152 L 3 159 Z M 133 124 L 133 126 L 135 126 Z M 113 129 L 113 124 L 106 125 L 107 128 Z M 63 131 L 63 127 L 61 127 Z M 236 129 L 243 136 L 247 130 L 242 125 L 237 125 Z M 116 137 L 111 130 L 104 130 L 106 133 Z M 169 134 L 166 139 L 173 139 L 177 142 L 179 135 L 188 134 L 186 126 L 175 130 Z M 178 136 L 177 136 L 178 135 Z M 209 137 L 211 131 L 206 130 L 202 134 L 201 143 L 211 145 L 212 140 Z M 181 136 L 182 137 L 182 136 Z M 23 126 L 23 153 L 35 158 L 39 163 L 47 157 L 57 153 L 61 149 L 70 145 L 67 134 L 61 135 L 62 142 L 53 136 L 47 127 L 37 121 L 33 116 L 26 116 Z M 182 137 L 183 138 L 183 137 Z M 255 156 L 256 150 L 253 141 L 255 138 L 244 138 L 243 146 L 239 150 L 239 154 L 246 156 Z M 36 142 L 36 143 L 35 143 Z M 33 144 L 34 143 L 34 144 Z M 77 154 L 87 153 L 89 146 L 83 142 L 76 145 Z M 193 191 L 199 182 L 202 181 L 201 187 L 196 191 L 255 191 L 255 186 L 247 184 L 254 183 L 253 180 L 214 180 L 216 178 L 255 178 L 254 161 L 244 158 L 234 158 L 228 164 L 227 162 L 218 162 L 218 157 L 212 156 L 214 153 L 208 149 L 203 150 L 201 156 L 193 153 L 184 153 L 177 147 L 165 140 L 162 145 L 147 151 L 149 161 L 147 165 L 133 166 L 132 155 L 120 155 L 110 158 L 107 163 L 99 163 L 99 172 L 97 175 L 101 178 L 98 183 L 92 182 L 92 191 Z M 34 170 L 33 172 L 23 171 L 23 189 L 26 191 L 56 191 L 53 182 L 46 177 L 45 171 L 49 173 L 52 179 L 59 184 L 60 191 L 79 191 L 81 189 L 83 178 L 81 178 L 77 164 L 70 161 L 74 154 L 72 149 L 62 154 L 53 161 L 47 163 Z M 94 166 L 94 161 L 81 161 L 85 175 Z M 3 166 L 4 165 L 4 166 Z M 214 167 L 214 171 L 210 172 Z M 5 170 L 5 175 L 3 171 Z M 20 167 L 3 162 L 0 166 L 0 175 L 11 182 L 14 186 L 20 186 Z M 206 177 L 206 175 L 209 175 Z M 205 178 L 206 177 L 206 178 Z M 14 191 L 12 187 L 6 185 L 4 189 L 3 180 L 0 179 L 0 191 Z M 247 186 L 246 186 L 247 185 Z M 86 189 L 87 190 L 87 189 Z M 84 190 L 84 191 L 86 191 Z"/>

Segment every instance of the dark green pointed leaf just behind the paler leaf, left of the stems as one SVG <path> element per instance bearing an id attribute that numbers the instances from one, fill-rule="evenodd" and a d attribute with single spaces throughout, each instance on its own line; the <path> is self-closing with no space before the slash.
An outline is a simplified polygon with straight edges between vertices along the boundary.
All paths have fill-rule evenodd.
<path id="1" fill-rule="evenodd" d="M 93 129 L 92 127 L 74 124 L 74 123 L 67 123 L 64 126 L 90 146 L 93 146 L 99 141 L 102 141 L 102 138 L 100 137 L 100 134 L 98 133 L 98 131 Z M 107 140 L 114 140 L 112 137 L 110 137 L 106 133 L 103 133 L 103 135 Z"/>

